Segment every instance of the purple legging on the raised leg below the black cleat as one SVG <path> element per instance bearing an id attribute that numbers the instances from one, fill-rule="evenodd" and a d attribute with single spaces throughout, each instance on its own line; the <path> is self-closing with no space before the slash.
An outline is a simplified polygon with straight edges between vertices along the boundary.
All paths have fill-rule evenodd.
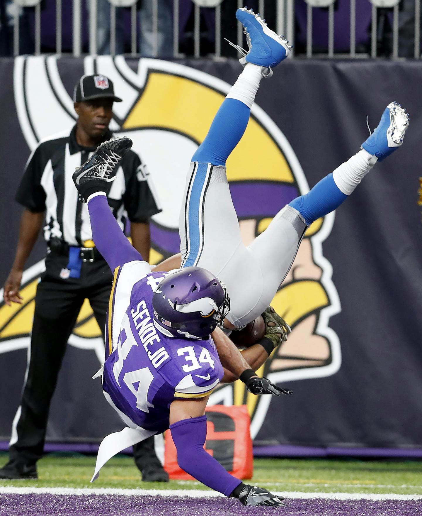
<path id="1" fill-rule="evenodd" d="M 141 254 L 125 237 L 111 213 L 105 195 L 92 197 L 88 202 L 92 239 L 111 270 L 134 260 L 143 260 Z"/>

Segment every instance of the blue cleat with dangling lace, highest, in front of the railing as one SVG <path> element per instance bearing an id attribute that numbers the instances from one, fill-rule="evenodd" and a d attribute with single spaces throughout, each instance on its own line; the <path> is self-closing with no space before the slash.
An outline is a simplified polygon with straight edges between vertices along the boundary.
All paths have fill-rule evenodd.
<path id="1" fill-rule="evenodd" d="M 241 46 L 227 41 L 243 54 L 243 57 L 239 59 L 243 66 L 247 62 L 254 63 L 254 65 L 263 67 L 263 77 L 271 77 L 272 69 L 290 54 L 292 47 L 288 45 L 289 41 L 270 30 L 265 20 L 262 20 L 260 15 L 255 14 L 252 9 L 247 9 L 247 7 L 238 9 L 236 18 L 244 27 L 249 51 L 246 52 Z"/>

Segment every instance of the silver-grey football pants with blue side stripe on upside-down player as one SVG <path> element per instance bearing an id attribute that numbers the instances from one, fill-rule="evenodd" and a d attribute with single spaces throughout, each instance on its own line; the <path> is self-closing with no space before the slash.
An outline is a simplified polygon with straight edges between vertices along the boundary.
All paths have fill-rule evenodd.
<path id="1" fill-rule="evenodd" d="M 191 163 L 179 219 L 182 267 L 203 267 L 226 284 L 227 318 L 236 328 L 254 320 L 271 303 L 305 230 L 305 220 L 287 205 L 245 247 L 226 167 Z"/>

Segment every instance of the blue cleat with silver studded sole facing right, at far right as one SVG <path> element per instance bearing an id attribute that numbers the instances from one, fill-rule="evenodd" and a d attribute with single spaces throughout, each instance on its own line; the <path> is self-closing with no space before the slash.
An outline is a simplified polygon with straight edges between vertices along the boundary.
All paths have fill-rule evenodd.
<path id="1" fill-rule="evenodd" d="M 409 120 L 409 115 L 400 104 L 390 102 L 382 114 L 378 127 L 362 143 L 362 149 L 376 156 L 378 161 L 382 161 L 403 143 Z"/>

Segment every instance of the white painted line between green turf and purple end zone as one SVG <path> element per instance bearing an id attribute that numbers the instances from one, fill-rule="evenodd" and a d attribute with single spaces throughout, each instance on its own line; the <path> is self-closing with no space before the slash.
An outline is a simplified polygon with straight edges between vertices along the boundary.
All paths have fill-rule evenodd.
<path id="1" fill-rule="evenodd" d="M 123 496 L 184 496 L 188 498 L 212 498 L 224 496 L 215 491 L 201 491 L 199 489 L 77 489 L 77 488 L 61 488 L 61 487 L 0 487 L 0 494 L 59 494 L 59 495 L 77 495 L 86 494 L 117 494 Z M 275 492 L 274 494 L 282 495 L 285 498 L 327 498 L 332 500 L 421 500 L 422 495 L 418 494 L 375 494 L 375 493 L 301 493 L 299 491 L 292 492 Z"/>

